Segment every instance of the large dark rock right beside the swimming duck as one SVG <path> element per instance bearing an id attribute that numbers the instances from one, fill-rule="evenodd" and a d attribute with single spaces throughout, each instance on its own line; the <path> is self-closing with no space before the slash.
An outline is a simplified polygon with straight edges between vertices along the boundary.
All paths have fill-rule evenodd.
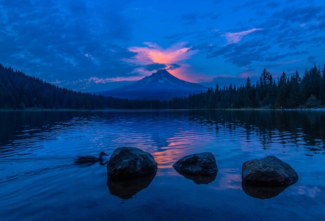
<path id="1" fill-rule="evenodd" d="M 107 176 L 131 178 L 150 175 L 157 169 L 157 162 L 150 153 L 135 147 L 118 147 L 107 163 Z"/>

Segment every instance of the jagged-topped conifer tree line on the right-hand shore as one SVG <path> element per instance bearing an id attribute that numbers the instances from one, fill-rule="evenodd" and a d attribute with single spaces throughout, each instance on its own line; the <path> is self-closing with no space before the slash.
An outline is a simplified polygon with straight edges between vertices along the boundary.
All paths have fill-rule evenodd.
<path id="1" fill-rule="evenodd" d="M 245 85 L 219 88 L 190 95 L 189 109 L 296 109 L 319 108 L 325 105 L 325 64 L 323 70 L 314 65 L 302 76 L 284 72 L 278 79 L 265 68 L 256 84 L 247 77 Z"/>

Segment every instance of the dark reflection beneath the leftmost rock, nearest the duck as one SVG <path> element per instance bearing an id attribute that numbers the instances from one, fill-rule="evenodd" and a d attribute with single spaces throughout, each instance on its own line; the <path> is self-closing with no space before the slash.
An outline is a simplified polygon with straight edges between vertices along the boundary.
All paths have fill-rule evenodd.
<path id="1" fill-rule="evenodd" d="M 130 199 L 133 195 L 147 188 L 154 180 L 157 171 L 147 176 L 134 177 L 130 179 L 107 178 L 109 192 L 121 199 Z"/>

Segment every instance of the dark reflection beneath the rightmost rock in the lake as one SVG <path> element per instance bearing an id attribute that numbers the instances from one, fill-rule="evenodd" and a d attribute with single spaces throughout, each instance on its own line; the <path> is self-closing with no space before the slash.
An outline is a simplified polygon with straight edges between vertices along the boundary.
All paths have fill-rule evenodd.
<path id="1" fill-rule="evenodd" d="M 244 192 L 254 198 L 258 199 L 270 199 L 276 197 L 281 192 L 283 192 L 286 188 L 291 186 L 292 184 L 296 183 L 292 182 L 290 184 L 282 184 L 282 185 L 256 185 L 256 184 L 249 184 L 245 181 L 241 182 L 241 187 Z"/>

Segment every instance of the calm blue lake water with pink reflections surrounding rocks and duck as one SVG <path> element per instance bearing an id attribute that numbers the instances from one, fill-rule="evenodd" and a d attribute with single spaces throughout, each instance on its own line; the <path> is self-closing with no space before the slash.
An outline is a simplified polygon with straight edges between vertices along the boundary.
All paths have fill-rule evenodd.
<path id="1" fill-rule="evenodd" d="M 106 165 L 77 155 L 138 147 L 156 176 L 107 184 Z M 215 179 L 172 164 L 209 151 Z M 242 186 L 245 161 L 275 155 L 299 180 Z M 109 157 L 107 158 L 109 159 Z M 311 221 L 325 218 L 325 111 L 0 112 L 0 217 L 4 221 Z"/>

